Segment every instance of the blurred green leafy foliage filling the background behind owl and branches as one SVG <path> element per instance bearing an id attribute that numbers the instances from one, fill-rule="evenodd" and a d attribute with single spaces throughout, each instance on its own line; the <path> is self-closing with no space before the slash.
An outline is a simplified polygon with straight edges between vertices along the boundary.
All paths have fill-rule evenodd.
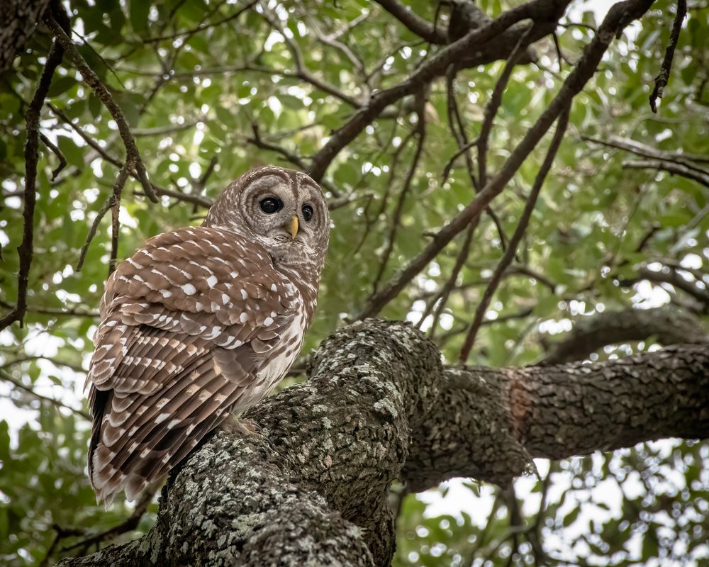
<path id="1" fill-rule="evenodd" d="M 121 201 L 119 258 L 158 232 L 199 223 L 205 209 L 191 201 L 214 198 L 250 167 L 272 162 L 307 167 L 308 157 L 376 89 L 402 82 L 442 49 L 425 43 L 376 4 L 358 0 L 272 0 L 250 3 L 243 13 L 243 1 L 229 0 L 69 4 L 74 42 L 125 113 L 151 181 L 177 195 L 163 194 L 160 203 L 151 203 L 140 183 L 129 179 Z M 437 3 L 406 4 L 434 21 Z M 495 16 L 512 4 L 481 0 L 478 6 Z M 568 25 L 557 29 L 559 48 L 571 62 L 581 57 L 597 25 L 590 4 L 572 4 L 562 19 Z M 666 152 L 698 155 L 698 163 L 708 161 L 702 157 L 709 150 L 706 4 L 689 11 L 659 113 L 652 114 L 647 102 L 674 10 L 673 4 L 660 1 L 628 28 L 575 99 L 566 138 L 518 254 L 489 305 L 470 364 L 540 361 L 574 320 L 602 311 L 670 301 L 697 315 L 709 310 L 706 184 L 657 168 L 624 167 L 632 154 L 588 140 L 616 135 Z M 17 293 L 24 113 L 51 41 L 48 29 L 40 26 L 0 86 L 4 308 L 11 307 Z M 491 174 L 571 70 L 559 60 L 550 38 L 533 49 L 537 63 L 515 67 L 495 118 Z M 468 140 L 480 133 L 484 108 L 504 66 L 499 60 L 457 73 L 454 96 Z M 459 149 L 450 129 L 445 80 L 432 82 L 423 106 L 420 102 L 420 96 L 407 97 L 387 108 L 328 168 L 325 188 L 330 202 L 339 206 L 332 211 L 334 230 L 317 320 L 303 352 L 357 318 L 374 288 L 385 287 L 420 253 L 431 233 L 474 196 L 464 157 L 442 179 Z M 52 81 L 41 132 L 67 166 L 53 177 L 57 155 L 48 145 L 40 146 L 29 309 L 23 327 L 13 325 L 0 335 L 0 378 L 5 381 L 0 387 L 11 400 L 3 405 L 10 425 L 0 425 L 0 561 L 9 566 L 57 556 L 86 533 L 108 529 L 130 513 L 125 505 L 108 512 L 94 505 L 85 473 L 88 422 L 74 411 L 107 274 L 110 213 L 99 223 L 81 271 L 76 266 L 89 227 L 111 195 L 116 163 L 125 150 L 116 121 L 67 58 Z M 457 360 L 475 308 L 518 225 L 548 138 L 493 201 L 498 224 L 490 215 L 481 218 L 435 324 L 431 313 L 464 249 L 465 232 L 381 312 L 427 330 L 449 361 Z M 677 280 L 668 283 L 673 274 L 679 285 Z M 656 346 L 648 337 L 606 347 L 591 359 Z M 32 391 L 61 399 L 74 410 L 57 408 Z M 646 444 L 552 464 L 549 479 L 521 481 L 530 495 L 515 499 L 491 487 L 484 487 L 487 498 L 471 495 L 470 501 L 481 505 L 496 499 L 489 518 L 477 510 L 431 517 L 425 501 L 410 495 L 401 505 L 395 564 L 521 565 L 543 561 L 542 549 L 549 561 L 682 563 L 705 553 L 706 452 L 705 444 Z M 605 483 L 620 487 L 611 510 L 597 490 Z M 630 485 L 634 493 L 624 490 Z M 138 528 L 147 529 L 153 519 L 148 513 Z M 57 533 L 62 537 L 55 546 Z M 86 549 L 79 546 L 69 553 L 80 551 Z"/>

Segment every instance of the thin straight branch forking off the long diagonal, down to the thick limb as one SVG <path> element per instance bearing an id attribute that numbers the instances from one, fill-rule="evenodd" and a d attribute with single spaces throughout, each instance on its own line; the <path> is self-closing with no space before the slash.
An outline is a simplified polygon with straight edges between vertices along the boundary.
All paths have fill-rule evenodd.
<path id="1" fill-rule="evenodd" d="M 475 310 L 473 322 L 470 324 L 467 335 L 463 341 L 463 346 L 460 349 L 459 361 L 463 364 L 468 359 L 470 350 L 475 342 L 475 337 L 480 329 L 481 323 L 483 322 L 487 308 L 490 305 L 490 300 L 497 290 L 497 286 L 500 284 L 503 274 L 515 257 L 520 240 L 522 240 L 522 237 L 527 230 L 527 225 L 532 217 L 532 211 L 537 204 L 537 197 L 539 197 L 539 193 L 542 190 L 542 185 L 544 185 L 544 180 L 547 177 L 547 173 L 549 173 L 549 169 L 551 169 L 552 163 L 554 163 L 554 157 L 556 157 L 559 146 L 564 139 L 566 125 L 569 123 L 570 108 L 571 105 L 569 104 L 569 106 L 564 108 L 561 116 L 559 116 L 557 130 L 554 132 L 554 137 L 552 138 L 552 143 L 549 145 L 549 150 L 547 150 L 547 155 L 544 158 L 544 162 L 542 162 L 542 166 L 540 167 L 539 172 L 537 172 L 537 177 L 535 178 L 534 185 L 532 186 L 532 191 L 530 191 L 530 196 L 527 198 L 527 203 L 525 204 L 525 209 L 520 217 L 520 222 L 517 224 L 515 233 L 512 235 L 512 239 L 510 240 L 510 245 L 495 268 L 495 271 L 490 279 L 490 283 L 485 288 L 483 296 Z"/>

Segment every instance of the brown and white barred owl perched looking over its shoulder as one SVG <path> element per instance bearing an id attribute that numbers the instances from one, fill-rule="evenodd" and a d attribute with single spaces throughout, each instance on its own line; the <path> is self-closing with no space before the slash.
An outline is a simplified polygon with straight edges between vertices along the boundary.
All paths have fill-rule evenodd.
<path id="1" fill-rule="evenodd" d="M 318 184 L 261 167 L 201 226 L 151 238 L 118 265 L 86 378 L 97 500 L 135 500 L 272 391 L 313 318 L 329 235 Z"/>

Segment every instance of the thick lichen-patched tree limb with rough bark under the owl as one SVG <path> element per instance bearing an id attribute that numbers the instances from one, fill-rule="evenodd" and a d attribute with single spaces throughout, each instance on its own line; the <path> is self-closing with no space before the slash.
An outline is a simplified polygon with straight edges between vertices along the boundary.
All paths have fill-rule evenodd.
<path id="1" fill-rule="evenodd" d="M 217 432 L 162 492 L 143 539 L 62 566 L 388 565 L 386 495 L 452 476 L 505 483 L 558 459 L 709 434 L 709 347 L 603 364 L 443 369 L 423 335 L 367 320 L 313 377 L 254 408 L 263 439 Z"/>

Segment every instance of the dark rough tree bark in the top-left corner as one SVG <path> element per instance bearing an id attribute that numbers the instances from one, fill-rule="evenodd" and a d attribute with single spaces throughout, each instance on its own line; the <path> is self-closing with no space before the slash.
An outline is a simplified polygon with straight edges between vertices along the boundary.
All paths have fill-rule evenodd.
<path id="1" fill-rule="evenodd" d="M 0 2 L 0 74 L 11 67 L 49 4 L 50 0 Z"/>

